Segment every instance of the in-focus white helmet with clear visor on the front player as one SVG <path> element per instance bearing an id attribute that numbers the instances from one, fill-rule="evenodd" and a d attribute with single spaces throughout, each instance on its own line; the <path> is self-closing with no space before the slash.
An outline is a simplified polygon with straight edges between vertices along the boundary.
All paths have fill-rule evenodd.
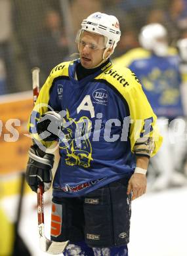
<path id="1" fill-rule="evenodd" d="M 114 53 L 114 49 L 121 36 L 119 21 L 115 16 L 94 12 L 83 20 L 81 23 L 81 30 L 77 37 L 81 35 L 83 30 L 104 35 L 107 39 L 106 49 L 110 48 L 112 49 L 112 53 Z"/>

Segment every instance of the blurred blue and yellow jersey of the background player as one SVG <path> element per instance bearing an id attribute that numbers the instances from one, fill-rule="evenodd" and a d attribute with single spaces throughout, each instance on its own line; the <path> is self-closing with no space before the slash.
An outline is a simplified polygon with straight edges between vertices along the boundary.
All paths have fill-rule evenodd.
<path id="1" fill-rule="evenodd" d="M 179 61 L 177 51 L 173 48 L 169 49 L 165 57 L 137 48 L 116 58 L 114 63 L 135 72 L 157 116 L 175 118 L 184 115 Z"/>

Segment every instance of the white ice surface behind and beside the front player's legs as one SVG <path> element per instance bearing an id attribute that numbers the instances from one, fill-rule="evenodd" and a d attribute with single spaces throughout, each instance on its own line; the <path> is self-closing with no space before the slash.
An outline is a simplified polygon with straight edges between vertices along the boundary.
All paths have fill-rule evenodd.
<path id="1" fill-rule="evenodd" d="M 45 195 L 47 198 L 47 194 Z M 16 197 L 1 201 L 14 220 Z M 20 234 L 33 256 L 49 255 L 39 249 L 36 194 L 24 198 Z M 51 206 L 45 202 L 45 233 L 50 234 Z M 129 256 L 186 256 L 187 188 L 148 193 L 132 203 Z"/>

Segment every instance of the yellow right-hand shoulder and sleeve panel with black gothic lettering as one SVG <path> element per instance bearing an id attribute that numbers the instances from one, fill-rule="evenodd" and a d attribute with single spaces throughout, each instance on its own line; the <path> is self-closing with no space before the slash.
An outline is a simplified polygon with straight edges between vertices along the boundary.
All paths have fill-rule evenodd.
<path id="1" fill-rule="evenodd" d="M 131 151 L 134 152 L 136 140 L 140 138 L 140 133 L 144 131 L 146 119 L 152 119 L 152 131 L 146 135 L 152 137 L 155 142 L 155 149 L 152 152 L 154 156 L 161 146 L 162 137 L 159 135 L 156 127 L 156 115 L 154 114 L 146 95 L 142 91 L 136 75 L 129 68 L 121 68 L 120 65 L 114 65 L 106 72 L 98 75 L 96 79 L 104 79 L 108 81 L 120 95 L 125 99 L 129 106 L 131 116 Z"/>

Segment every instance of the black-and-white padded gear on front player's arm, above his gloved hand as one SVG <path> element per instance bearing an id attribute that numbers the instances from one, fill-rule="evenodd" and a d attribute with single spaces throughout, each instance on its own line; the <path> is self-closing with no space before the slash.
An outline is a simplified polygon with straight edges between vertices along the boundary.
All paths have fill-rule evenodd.
<path id="1" fill-rule="evenodd" d="M 36 129 L 39 137 L 44 141 L 58 139 L 62 126 L 62 117 L 56 111 L 48 111 L 39 119 Z"/>

